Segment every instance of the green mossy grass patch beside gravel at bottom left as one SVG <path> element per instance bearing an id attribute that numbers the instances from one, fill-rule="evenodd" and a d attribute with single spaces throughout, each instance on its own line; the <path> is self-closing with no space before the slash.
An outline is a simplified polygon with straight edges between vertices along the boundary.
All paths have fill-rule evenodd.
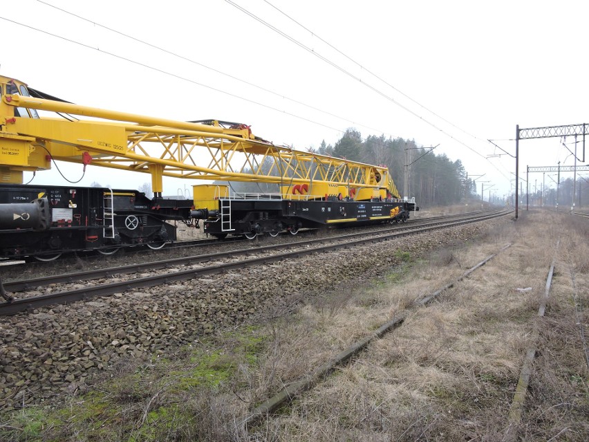
<path id="1" fill-rule="evenodd" d="M 240 364 L 255 369 L 268 338 L 247 327 L 224 333 L 218 340 L 225 343 L 223 349 L 218 349 L 219 342 L 205 343 L 183 349 L 176 360 L 153 358 L 135 364 L 133 371 L 106 380 L 60 407 L 35 406 L 4 413 L 0 415 L 0 440 L 174 439 L 178 427 L 198 425 L 191 409 L 183 407 L 191 394 L 222 389 Z"/>

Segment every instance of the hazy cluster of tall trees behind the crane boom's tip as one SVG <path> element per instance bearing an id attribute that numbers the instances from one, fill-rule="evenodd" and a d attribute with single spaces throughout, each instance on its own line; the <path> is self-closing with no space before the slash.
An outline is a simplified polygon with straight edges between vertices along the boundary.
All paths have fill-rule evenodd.
<path id="1" fill-rule="evenodd" d="M 361 163 L 386 165 L 402 196 L 413 197 L 421 205 L 448 205 L 476 195 L 476 185 L 465 181 L 465 169 L 460 160 L 452 161 L 445 154 L 419 147 L 415 140 L 368 136 L 348 129 L 335 145 L 321 142 L 310 149 L 328 156 L 346 158 Z M 405 165 L 408 167 L 405 168 Z M 404 173 L 408 172 L 408 189 L 404 189 Z"/>

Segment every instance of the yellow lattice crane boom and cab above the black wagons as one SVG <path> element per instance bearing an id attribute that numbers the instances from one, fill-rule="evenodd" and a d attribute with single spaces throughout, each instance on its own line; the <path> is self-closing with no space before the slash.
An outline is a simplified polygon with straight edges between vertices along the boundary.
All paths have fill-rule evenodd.
<path id="1" fill-rule="evenodd" d="M 162 177 L 171 176 L 277 183 L 285 194 L 310 192 L 316 185 L 400 197 L 387 167 L 277 146 L 247 125 L 167 120 L 35 98 L 26 84 L 8 77 L 0 77 L 0 89 L 3 183 L 22 183 L 22 172 L 50 169 L 53 158 L 148 173 L 156 195 L 163 191 Z M 37 110 L 101 120 L 39 118 Z"/>

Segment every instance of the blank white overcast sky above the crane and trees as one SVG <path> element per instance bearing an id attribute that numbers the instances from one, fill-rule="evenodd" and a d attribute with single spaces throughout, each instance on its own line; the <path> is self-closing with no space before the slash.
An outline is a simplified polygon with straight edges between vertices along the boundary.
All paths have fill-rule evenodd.
<path id="1" fill-rule="evenodd" d="M 516 124 L 540 127 L 589 122 L 587 1 L 234 3 L 312 48 L 355 79 L 225 0 L 10 2 L 0 12 L 0 73 L 86 106 L 177 120 L 243 122 L 252 125 L 257 136 L 297 149 L 319 147 L 321 140 L 334 144 L 348 127 L 358 129 L 363 138 L 384 133 L 413 138 L 424 147 L 440 144 L 436 154 L 460 159 L 470 176 L 486 174 L 480 181 L 489 181 L 485 187 L 494 185 L 492 192 L 496 190 L 498 196 L 509 192 L 515 160 L 507 155 L 487 160 L 488 155 L 503 154 L 487 138 L 501 140 L 497 144 L 514 154 L 515 142 L 507 139 L 515 137 Z M 564 165 L 573 164 L 559 138 L 523 140 L 520 155 L 524 178 L 526 165 L 557 165 L 559 160 Z M 82 174 L 78 165 L 61 163 L 60 168 L 72 180 Z M 28 178 L 30 174 L 25 180 Z M 530 181 L 532 178 L 541 180 L 542 175 L 533 174 Z M 167 179 L 165 194 L 194 184 Z M 402 176 L 393 179 L 402 185 Z M 150 178 L 88 167 L 81 184 L 93 181 L 138 187 Z M 547 187 L 552 183 L 549 181 L 546 178 Z M 33 183 L 66 182 L 51 171 L 40 172 Z"/>

